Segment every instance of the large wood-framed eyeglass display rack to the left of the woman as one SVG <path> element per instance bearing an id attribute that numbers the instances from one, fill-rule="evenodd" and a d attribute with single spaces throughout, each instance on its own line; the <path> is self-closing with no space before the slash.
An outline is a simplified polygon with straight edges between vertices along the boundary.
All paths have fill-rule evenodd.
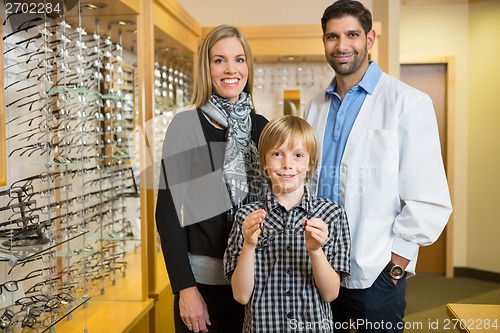
<path id="1" fill-rule="evenodd" d="M 189 99 L 200 28 L 175 1 L 105 0 L 95 10 L 75 3 L 4 38 L 3 331 L 170 331 L 172 294 L 152 218 L 155 172 L 144 167 L 155 149 L 143 139 L 161 141 L 175 107 Z M 176 50 L 163 64 L 168 102 L 153 88 L 154 58 L 166 47 Z M 148 133 L 155 122 L 160 131 Z M 17 246 L 16 230 L 29 228 L 39 244 Z M 19 301 L 30 290 L 57 307 Z"/>

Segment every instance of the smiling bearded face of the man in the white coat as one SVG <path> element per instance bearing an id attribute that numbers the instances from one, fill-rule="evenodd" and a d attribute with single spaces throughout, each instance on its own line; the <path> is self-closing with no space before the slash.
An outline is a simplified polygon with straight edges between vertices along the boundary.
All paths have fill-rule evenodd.
<path id="1" fill-rule="evenodd" d="M 368 50 L 373 45 L 375 32 L 365 34 L 353 16 L 331 19 L 326 24 L 323 45 L 328 63 L 336 75 L 349 76 L 364 73 L 368 67 Z"/>

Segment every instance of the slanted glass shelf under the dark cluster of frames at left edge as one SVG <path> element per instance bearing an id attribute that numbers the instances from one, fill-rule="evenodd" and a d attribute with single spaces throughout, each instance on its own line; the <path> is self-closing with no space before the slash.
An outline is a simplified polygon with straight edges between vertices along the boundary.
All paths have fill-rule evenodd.
<path id="1" fill-rule="evenodd" d="M 0 262 L 7 261 L 9 262 L 10 266 L 22 264 L 23 262 L 39 256 L 51 249 L 54 249 L 61 244 L 81 237 L 88 232 L 88 230 L 82 230 L 70 235 L 58 235 L 57 237 L 51 239 L 48 243 L 40 244 L 38 246 L 19 246 L 12 248 L 0 247 Z"/>

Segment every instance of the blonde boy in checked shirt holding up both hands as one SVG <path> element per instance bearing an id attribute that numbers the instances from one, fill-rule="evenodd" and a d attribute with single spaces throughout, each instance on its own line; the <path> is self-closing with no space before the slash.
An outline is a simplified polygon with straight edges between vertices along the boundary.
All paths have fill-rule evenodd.
<path id="1" fill-rule="evenodd" d="M 342 207 L 305 186 L 318 161 L 313 128 L 284 116 L 259 139 L 266 199 L 243 206 L 224 254 L 244 332 L 331 332 L 330 304 L 349 274 L 350 238 Z"/>

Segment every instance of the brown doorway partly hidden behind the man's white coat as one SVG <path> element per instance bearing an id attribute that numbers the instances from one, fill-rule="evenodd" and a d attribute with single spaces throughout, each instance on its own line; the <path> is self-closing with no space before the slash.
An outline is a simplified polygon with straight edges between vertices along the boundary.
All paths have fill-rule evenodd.
<path id="1" fill-rule="evenodd" d="M 400 71 L 401 81 L 425 92 L 432 99 L 438 123 L 443 163 L 448 176 L 449 70 L 448 63 L 438 62 L 402 64 Z M 418 273 L 434 273 L 446 276 L 453 274 L 450 224 L 451 220 L 434 244 L 420 247 L 416 268 Z"/>

